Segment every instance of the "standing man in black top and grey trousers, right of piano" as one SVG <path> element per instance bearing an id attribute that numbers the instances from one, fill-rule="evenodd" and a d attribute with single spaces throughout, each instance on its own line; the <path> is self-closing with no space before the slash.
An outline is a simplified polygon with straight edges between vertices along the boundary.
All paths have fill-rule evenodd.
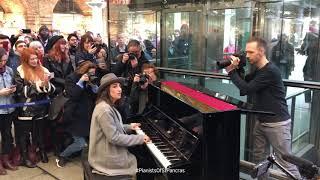
<path id="1" fill-rule="evenodd" d="M 291 154 L 291 119 L 285 99 L 285 87 L 279 69 L 266 58 L 267 43 L 253 37 L 246 44 L 247 59 L 256 70 L 242 79 L 237 73 L 239 58 L 231 56 L 226 67 L 232 82 L 242 95 L 253 96 L 254 110 L 272 112 L 275 115 L 257 114 L 253 129 L 253 156 L 256 163 L 270 154 L 270 145 L 279 163 L 296 178 L 301 178 L 296 166 L 283 160 L 283 154 Z M 267 179 L 267 174 L 260 179 Z"/>

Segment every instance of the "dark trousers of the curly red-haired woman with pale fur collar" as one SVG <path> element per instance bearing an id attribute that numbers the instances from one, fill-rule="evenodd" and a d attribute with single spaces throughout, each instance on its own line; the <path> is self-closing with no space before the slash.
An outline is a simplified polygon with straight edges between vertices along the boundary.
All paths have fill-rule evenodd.
<path id="1" fill-rule="evenodd" d="M 40 148 L 40 150 L 44 151 L 45 129 L 47 123 L 46 121 L 46 119 L 35 120 L 35 127 L 32 127 L 32 120 L 14 121 L 16 142 L 23 152 L 27 151 L 28 144 L 30 144 L 30 133 L 32 134 L 32 143 L 37 145 Z"/>

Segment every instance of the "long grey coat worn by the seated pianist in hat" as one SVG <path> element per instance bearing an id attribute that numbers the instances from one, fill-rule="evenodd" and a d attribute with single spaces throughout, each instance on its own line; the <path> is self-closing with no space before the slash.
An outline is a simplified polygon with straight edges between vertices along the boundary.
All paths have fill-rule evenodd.
<path id="1" fill-rule="evenodd" d="M 92 172 L 106 176 L 134 175 L 137 160 L 128 151 L 129 146 L 143 144 L 143 135 L 127 134 L 129 125 L 123 125 L 120 113 L 106 102 L 96 105 L 89 138 L 88 161 Z"/>

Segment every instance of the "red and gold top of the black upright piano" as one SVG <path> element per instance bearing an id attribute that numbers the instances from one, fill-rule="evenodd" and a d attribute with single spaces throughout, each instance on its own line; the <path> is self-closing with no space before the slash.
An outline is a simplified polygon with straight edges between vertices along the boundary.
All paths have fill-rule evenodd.
<path id="1" fill-rule="evenodd" d="M 225 102 L 220 98 L 218 99 L 218 97 L 209 96 L 208 94 L 174 81 L 162 82 L 161 90 L 198 109 L 202 113 L 238 109 L 237 106 Z"/>

